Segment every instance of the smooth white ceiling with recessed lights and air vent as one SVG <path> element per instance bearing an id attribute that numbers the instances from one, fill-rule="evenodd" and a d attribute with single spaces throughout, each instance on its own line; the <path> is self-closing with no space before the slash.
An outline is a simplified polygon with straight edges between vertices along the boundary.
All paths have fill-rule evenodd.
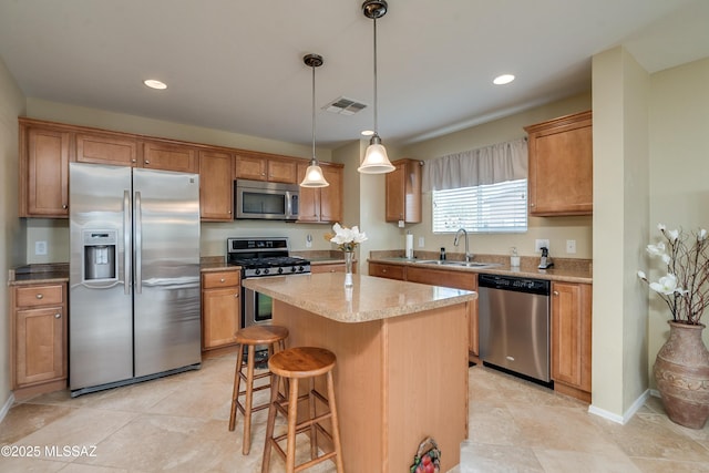
<path id="1" fill-rule="evenodd" d="M 373 125 L 372 23 L 361 0 L 0 0 L 0 58 L 28 97 L 309 144 L 318 53 L 318 146 L 336 147 Z M 706 0 L 389 0 L 379 134 L 412 143 L 587 91 L 590 58 L 617 45 L 650 73 L 707 58 L 708 24 Z M 340 96 L 369 106 L 321 110 Z"/>

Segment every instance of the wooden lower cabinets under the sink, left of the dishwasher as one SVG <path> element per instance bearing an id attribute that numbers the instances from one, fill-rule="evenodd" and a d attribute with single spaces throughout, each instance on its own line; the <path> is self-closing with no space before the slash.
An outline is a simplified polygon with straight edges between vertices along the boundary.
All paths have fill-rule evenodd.
<path id="1" fill-rule="evenodd" d="M 369 275 L 380 278 L 421 282 L 430 286 L 444 286 L 477 291 L 476 273 L 388 265 L 386 263 L 370 263 Z M 477 299 L 473 300 L 469 307 L 470 333 L 467 351 L 477 357 L 480 353 Z"/>

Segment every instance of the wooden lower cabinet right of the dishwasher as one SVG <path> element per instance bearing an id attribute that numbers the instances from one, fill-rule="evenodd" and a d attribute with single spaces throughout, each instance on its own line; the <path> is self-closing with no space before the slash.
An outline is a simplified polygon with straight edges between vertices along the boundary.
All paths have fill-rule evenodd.
<path id="1" fill-rule="evenodd" d="M 590 402 L 592 286 L 552 282 L 554 389 Z"/>

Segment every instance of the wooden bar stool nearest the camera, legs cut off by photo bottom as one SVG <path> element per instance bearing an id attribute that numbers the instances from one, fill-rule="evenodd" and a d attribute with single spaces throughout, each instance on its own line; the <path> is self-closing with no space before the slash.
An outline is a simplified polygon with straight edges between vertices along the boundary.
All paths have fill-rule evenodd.
<path id="1" fill-rule="evenodd" d="M 337 420 L 337 409 L 335 402 L 335 387 L 332 384 L 332 368 L 335 368 L 335 353 L 323 348 L 296 347 L 280 351 L 268 359 L 268 368 L 274 374 L 273 382 L 277 387 L 270 390 L 270 407 L 268 409 L 268 423 L 266 424 L 266 444 L 264 445 L 264 462 L 261 473 L 267 473 L 270 463 L 271 446 L 286 461 L 286 472 L 294 473 L 308 469 L 315 464 L 335 457 L 338 473 L 343 473 L 342 448 L 340 445 L 340 429 Z M 327 377 L 327 399 L 315 389 L 315 378 L 325 374 Z M 298 395 L 298 381 L 308 378 L 308 392 Z M 288 399 L 278 390 L 278 383 L 289 381 Z M 286 383 L 288 384 L 288 382 Z M 308 400 L 308 420 L 297 423 L 298 402 Z M 316 415 L 316 400 L 328 408 L 327 412 Z M 276 413 L 280 412 L 288 419 L 288 432 L 274 438 L 274 424 Z M 322 425 L 322 421 L 330 419 L 332 434 L 328 433 Z M 296 466 L 296 435 L 298 433 L 310 433 L 310 461 Z M 318 456 L 317 434 L 325 435 L 332 442 L 333 451 Z M 278 442 L 286 439 L 286 451 Z"/>

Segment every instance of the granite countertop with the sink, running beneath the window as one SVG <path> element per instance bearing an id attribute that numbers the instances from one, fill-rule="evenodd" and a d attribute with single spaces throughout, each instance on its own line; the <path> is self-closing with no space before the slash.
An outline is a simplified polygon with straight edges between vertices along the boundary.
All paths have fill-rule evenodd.
<path id="1" fill-rule="evenodd" d="M 473 260 L 494 263 L 500 266 L 492 267 L 464 267 L 464 266 L 439 266 L 418 263 L 427 259 L 438 259 L 436 254 L 421 254 L 414 255 L 413 259 L 404 258 L 401 251 L 371 251 L 368 261 L 372 263 L 387 263 L 393 265 L 415 266 L 418 268 L 430 269 L 443 269 L 451 271 L 466 271 L 466 273 L 484 273 L 487 275 L 501 275 L 501 276 L 518 276 L 535 279 L 546 279 L 552 281 L 563 282 L 580 282 L 593 284 L 593 264 L 587 259 L 573 259 L 573 258 L 555 258 L 554 266 L 548 269 L 537 268 L 540 258 L 535 257 L 522 257 L 518 268 L 510 266 L 508 256 L 499 255 L 480 255 L 475 256 Z M 449 260 L 461 259 L 462 255 L 449 254 Z"/>

